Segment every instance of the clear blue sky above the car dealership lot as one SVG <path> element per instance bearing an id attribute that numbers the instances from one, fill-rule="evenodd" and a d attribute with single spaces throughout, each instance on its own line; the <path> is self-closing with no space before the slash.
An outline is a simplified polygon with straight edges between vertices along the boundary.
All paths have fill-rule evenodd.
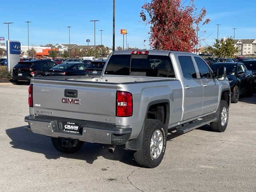
<path id="1" fill-rule="evenodd" d="M 68 28 L 70 28 L 70 43 L 86 45 L 86 39 L 94 44 L 94 25 L 96 22 L 96 44 L 112 46 L 112 0 L 14 0 L 1 1 L 0 36 L 8 39 L 7 25 L 4 22 L 14 22 L 10 25 L 10 40 L 19 40 L 27 45 L 27 24 L 30 23 L 30 45 L 47 43 L 68 44 Z M 116 47 L 122 46 L 120 29 L 127 29 L 129 47 L 149 48 L 148 32 L 150 26 L 145 26 L 139 17 L 141 6 L 145 0 L 116 0 Z M 147 0 L 150 2 L 150 0 Z M 233 36 L 236 29 L 236 39 L 256 38 L 256 4 L 255 0 L 195 0 L 198 9 L 205 7 L 206 18 L 211 22 L 204 26 L 206 30 L 202 46 L 214 42 L 217 38 Z M 10 10 L 9 10 L 10 8 Z"/>

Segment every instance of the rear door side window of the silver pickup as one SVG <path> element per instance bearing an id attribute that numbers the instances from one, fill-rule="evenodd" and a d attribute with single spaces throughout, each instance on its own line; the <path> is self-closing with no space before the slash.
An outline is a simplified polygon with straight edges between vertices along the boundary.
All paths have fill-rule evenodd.
<path id="1" fill-rule="evenodd" d="M 186 79 L 196 79 L 196 70 L 190 56 L 178 56 L 183 77 Z"/>

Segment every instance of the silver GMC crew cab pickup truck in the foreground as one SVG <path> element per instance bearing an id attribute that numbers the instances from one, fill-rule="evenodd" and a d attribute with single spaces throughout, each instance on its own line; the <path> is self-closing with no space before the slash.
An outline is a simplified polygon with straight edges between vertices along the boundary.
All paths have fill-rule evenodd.
<path id="1" fill-rule="evenodd" d="M 148 168 L 162 161 L 168 130 L 223 132 L 230 106 L 226 68 L 213 73 L 196 54 L 157 50 L 112 52 L 101 76 L 32 78 L 28 94 L 25 129 L 51 137 L 56 150 L 125 144 Z"/>

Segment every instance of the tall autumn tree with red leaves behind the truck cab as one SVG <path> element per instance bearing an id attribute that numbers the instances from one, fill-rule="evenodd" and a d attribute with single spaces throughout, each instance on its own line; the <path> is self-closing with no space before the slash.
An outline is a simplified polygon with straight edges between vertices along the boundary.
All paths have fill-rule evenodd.
<path id="1" fill-rule="evenodd" d="M 194 0 L 181 4 L 181 0 L 152 0 L 142 6 L 140 17 L 150 24 L 150 46 L 156 50 L 196 51 L 198 43 L 196 32 L 198 25 L 208 24 L 203 21 L 206 10 L 197 12 Z"/>

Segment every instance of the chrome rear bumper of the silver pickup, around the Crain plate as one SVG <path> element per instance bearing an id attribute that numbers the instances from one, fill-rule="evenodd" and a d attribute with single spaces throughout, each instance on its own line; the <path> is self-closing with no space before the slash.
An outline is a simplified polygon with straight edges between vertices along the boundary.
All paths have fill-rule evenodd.
<path id="1" fill-rule="evenodd" d="M 70 138 L 90 143 L 122 145 L 129 141 L 132 128 L 118 128 L 112 124 L 82 121 L 66 118 L 26 116 L 28 122 L 25 130 L 56 138 Z M 80 124 L 80 133 L 65 132 L 60 126 L 62 122 Z"/>

